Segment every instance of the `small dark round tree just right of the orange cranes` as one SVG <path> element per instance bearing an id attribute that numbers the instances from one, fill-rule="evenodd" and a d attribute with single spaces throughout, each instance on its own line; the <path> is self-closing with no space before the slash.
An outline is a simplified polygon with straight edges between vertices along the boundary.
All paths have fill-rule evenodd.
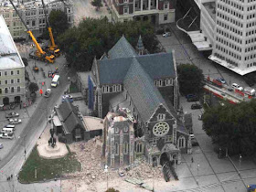
<path id="1" fill-rule="evenodd" d="M 69 28 L 68 16 L 62 11 L 52 10 L 49 14 L 48 22 L 55 38 Z"/>

